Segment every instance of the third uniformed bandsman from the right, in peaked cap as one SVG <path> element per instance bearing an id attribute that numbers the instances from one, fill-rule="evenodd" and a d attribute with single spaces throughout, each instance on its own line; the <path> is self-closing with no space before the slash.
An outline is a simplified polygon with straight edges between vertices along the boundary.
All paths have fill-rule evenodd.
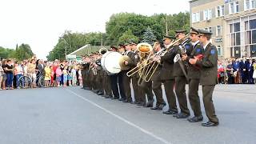
<path id="1" fill-rule="evenodd" d="M 180 44 L 174 46 L 174 49 L 176 50 L 176 54 L 182 55 L 182 44 L 185 38 L 186 30 L 176 30 L 176 38 L 180 39 Z M 189 47 L 189 46 L 188 46 Z M 186 70 L 185 63 L 183 63 L 183 68 Z M 179 114 L 174 114 L 174 117 L 176 118 L 188 118 L 190 116 L 190 110 L 187 106 L 187 100 L 186 100 L 186 77 L 182 70 L 182 67 L 180 66 L 179 62 L 174 63 L 174 77 L 175 77 L 175 93 L 178 98 L 178 104 L 181 109 L 181 112 Z"/>

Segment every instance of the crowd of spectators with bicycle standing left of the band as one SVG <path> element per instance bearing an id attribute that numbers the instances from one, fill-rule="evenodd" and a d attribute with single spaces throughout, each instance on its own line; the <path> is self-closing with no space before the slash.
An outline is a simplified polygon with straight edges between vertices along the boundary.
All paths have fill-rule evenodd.
<path id="1" fill-rule="evenodd" d="M 30 86 L 21 84 L 21 77 L 29 76 Z M 78 62 L 43 61 L 35 56 L 30 60 L 16 61 L 2 59 L 0 61 L 0 90 L 38 87 L 38 78 L 42 76 L 43 86 L 82 86 L 81 67 Z M 42 79 L 41 79 L 42 80 Z"/>

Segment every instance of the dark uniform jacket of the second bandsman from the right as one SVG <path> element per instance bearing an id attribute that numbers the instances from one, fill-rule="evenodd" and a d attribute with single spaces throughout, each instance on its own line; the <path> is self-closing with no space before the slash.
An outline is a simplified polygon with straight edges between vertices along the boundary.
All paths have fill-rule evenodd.
<path id="1" fill-rule="evenodd" d="M 190 58 L 194 58 L 194 56 L 197 56 L 198 54 L 202 54 L 203 47 L 198 42 L 197 44 L 190 45 L 190 53 L 187 53 L 186 62 L 188 62 L 188 70 L 187 70 L 187 76 L 190 79 L 199 79 L 200 78 L 200 68 L 196 65 L 191 65 L 189 63 Z"/>

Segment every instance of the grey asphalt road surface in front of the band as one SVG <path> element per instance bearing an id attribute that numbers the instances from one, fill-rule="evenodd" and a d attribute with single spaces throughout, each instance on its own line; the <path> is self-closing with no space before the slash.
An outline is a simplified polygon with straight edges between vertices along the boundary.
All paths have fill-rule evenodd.
<path id="1" fill-rule="evenodd" d="M 255 85 L 216 86 L 214 104 L 220 125 L 202 127 L 80 87 L 5 90 L 0 144 L 256 143 Z"/>

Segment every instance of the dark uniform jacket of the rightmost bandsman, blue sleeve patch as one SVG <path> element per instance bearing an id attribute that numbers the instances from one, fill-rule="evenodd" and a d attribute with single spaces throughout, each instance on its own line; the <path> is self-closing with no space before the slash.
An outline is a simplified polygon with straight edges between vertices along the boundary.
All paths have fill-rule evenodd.
<path id="1" fill-rule="evenodd" d="M 197 61 L 196 64 L 202 67 L 200 77 L 201 85 L 210 86 L 218 83 L 218 50 L 216 49 L 216 46 L 209 43 L 203 51 L 202 61 Z"/>

